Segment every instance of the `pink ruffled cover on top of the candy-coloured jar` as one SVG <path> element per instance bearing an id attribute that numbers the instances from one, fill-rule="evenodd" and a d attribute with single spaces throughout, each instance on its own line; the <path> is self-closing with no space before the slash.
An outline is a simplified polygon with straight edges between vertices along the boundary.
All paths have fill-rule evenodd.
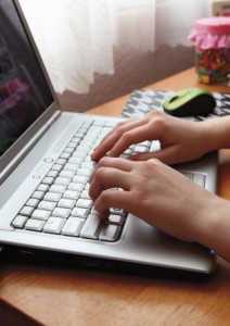
<path id="1" fill-rule="evenodd" d="M 230 17 L 205 17 L 195 21 L 189 39 L 202 50 L 230 48 Z"/>

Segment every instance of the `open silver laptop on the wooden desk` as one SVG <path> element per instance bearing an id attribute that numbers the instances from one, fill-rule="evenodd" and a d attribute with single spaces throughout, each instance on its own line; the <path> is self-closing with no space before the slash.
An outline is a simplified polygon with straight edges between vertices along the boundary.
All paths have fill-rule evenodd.
<path id="1" fill-rule="evenodd" d="M 18 1 L 0 1 L 0 15 L 2 252 L 112 271 L 212 274 L 210 249 L 176 240 L 119 208 L 102 223 L 88 195 L 90 151 L 122 118 L 62 112 Z M 129 152 L 153 148 L 145 141 Z M 177 168 L 216 191 L 217 154 Z"/>

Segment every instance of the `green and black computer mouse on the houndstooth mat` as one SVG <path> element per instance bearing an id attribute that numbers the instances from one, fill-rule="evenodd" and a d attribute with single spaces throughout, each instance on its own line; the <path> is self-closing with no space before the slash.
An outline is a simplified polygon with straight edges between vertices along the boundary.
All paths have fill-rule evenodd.
<path id="1" fill-rule="evenodd" d="M 194 87 L 182 89 L 167 98 L 164 111 L 174 116 L 207 115 L 214 111 L 216 100 L 206 89 Z"/>

